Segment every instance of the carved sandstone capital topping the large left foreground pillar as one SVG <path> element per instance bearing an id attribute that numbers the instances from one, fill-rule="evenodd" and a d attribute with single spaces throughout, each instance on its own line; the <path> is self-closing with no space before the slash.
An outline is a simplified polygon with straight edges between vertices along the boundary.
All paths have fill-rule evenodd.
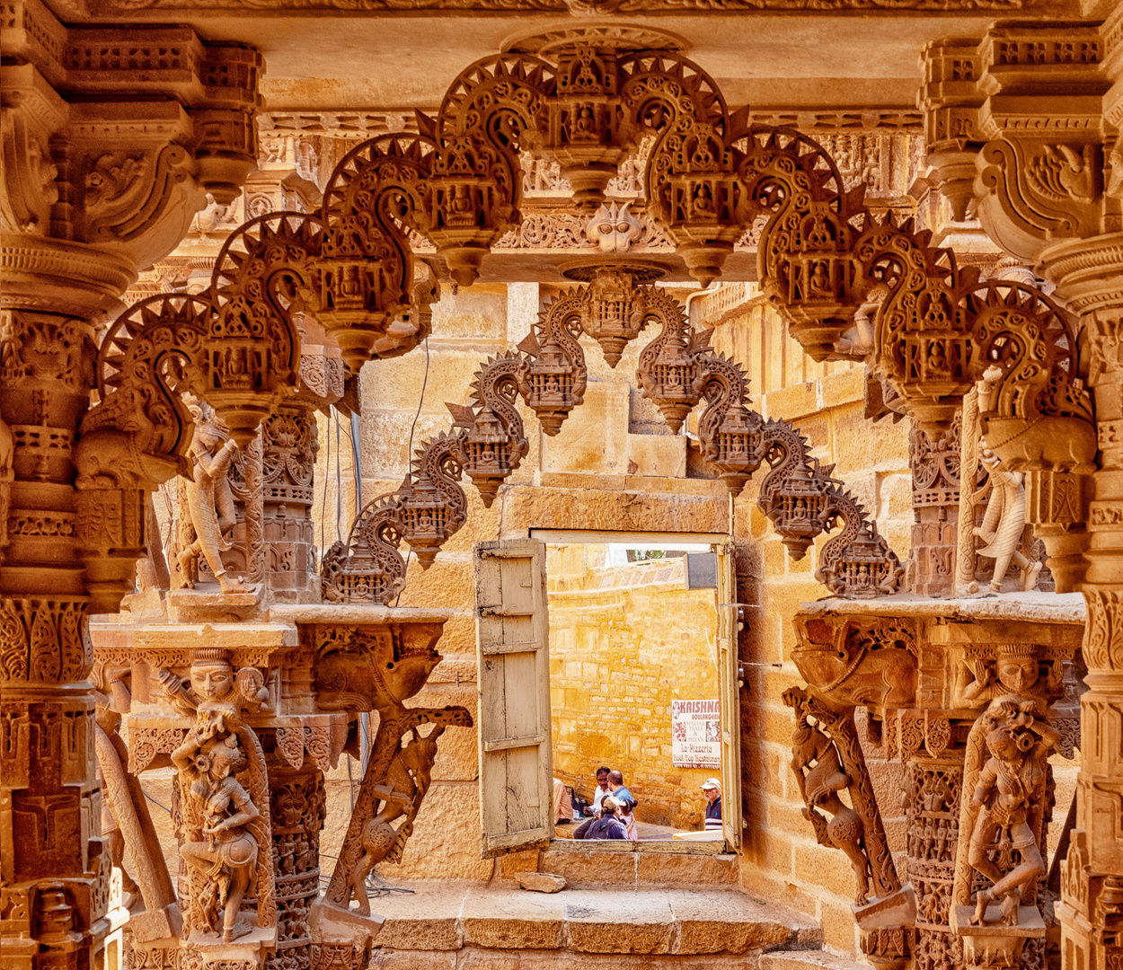
<path id="1" fill-rule="evenodd" d="M 3 302 L 92 319 L 179 245 L 208 192 L 237 195 L 257 154 L 262 58 L 188 27 L 65 27 L 38 0 L 9 17 Z"/>

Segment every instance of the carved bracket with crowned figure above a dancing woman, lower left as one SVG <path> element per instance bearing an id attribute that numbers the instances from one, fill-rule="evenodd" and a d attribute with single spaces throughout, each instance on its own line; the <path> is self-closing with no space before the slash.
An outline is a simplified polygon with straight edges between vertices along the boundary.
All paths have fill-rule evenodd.
<path id="1" fill-rule="evenodd" d="M 275 931 L 273 839 L 265 754 L 244 714 L 268 699 L 255 668 L 235 677 L 226 651 L 195 651 L 189 684 L 162 669 L 159 679 L 180 713 L 194 725 L 172 753 L 183 821 L 180 854 L 188 866 L 190 902 L 184 924 L 198 942 L 229 943 L 254 930 L 241 919 L 247 895 L 256 925 Z M 209 934 L 204 936 L 203 934 Z M 210 935 L 212 934 L 212 935 Z M 270 934 L 272 935 L 272 934 Z"/>

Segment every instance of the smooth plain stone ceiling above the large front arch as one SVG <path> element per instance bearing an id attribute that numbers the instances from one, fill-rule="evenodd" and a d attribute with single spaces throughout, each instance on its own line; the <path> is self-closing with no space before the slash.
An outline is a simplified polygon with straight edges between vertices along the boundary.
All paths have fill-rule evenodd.
<path id="1" fill-rule="evenodd" d="M 52 0 L 63 20 L 186 22 L 265 55 L 273 110 L 439 104 L 468 64 L 591 24 L 669 31 L 730 106 L 913 108 L 933 39 L 1001 18 L 1095 18 L 1111 0 Z M 567 7 L 619 10 L 569 16 Z M 814 9 L 798 9 L 814 8 Z"/>

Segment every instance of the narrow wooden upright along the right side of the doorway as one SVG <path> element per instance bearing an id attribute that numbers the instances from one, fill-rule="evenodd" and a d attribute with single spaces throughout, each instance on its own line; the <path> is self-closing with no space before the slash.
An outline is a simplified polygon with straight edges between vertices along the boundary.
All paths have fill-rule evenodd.
<path id="1" fill-rule="evenodd" d="M 733 547 L 713 546 L 718 556 L 718 665 L 721 690 L 721 818 L 725 845 L 741 848 L 741 702 L 737 634 L 740 607 Z"/>

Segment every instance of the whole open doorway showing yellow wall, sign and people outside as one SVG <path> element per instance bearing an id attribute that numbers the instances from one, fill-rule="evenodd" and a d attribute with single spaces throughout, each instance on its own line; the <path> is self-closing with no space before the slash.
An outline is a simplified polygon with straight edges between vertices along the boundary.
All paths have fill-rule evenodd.
<path id="1" fill-rule="evenodd" d="M 728 538 L 532 534 L 546 543 L 555 845 L 736 848 Z"/>

